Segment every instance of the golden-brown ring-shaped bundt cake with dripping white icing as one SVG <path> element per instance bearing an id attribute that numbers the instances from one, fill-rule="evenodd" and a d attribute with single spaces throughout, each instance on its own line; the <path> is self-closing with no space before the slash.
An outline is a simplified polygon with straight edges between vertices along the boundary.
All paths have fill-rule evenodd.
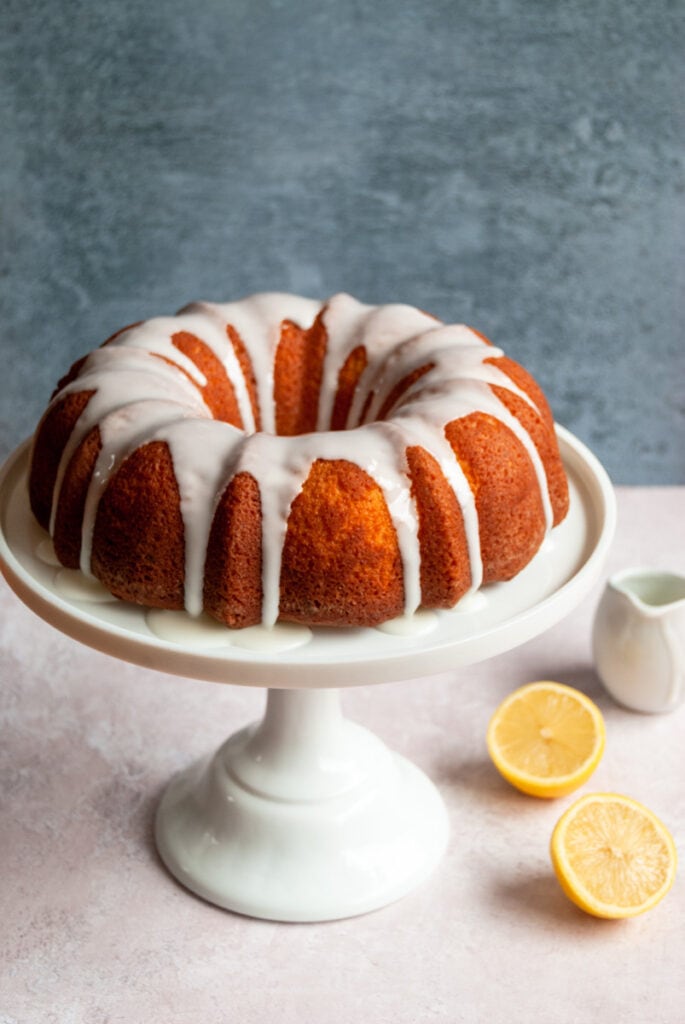
<path id="1" fill-rule="evenodd" d="M 344 294 L 125 328 L 59 382 L 29 487 L 63 565 L 233 628 L 452 607 L 516 575 L 568 506 L 525 370 Z"/>

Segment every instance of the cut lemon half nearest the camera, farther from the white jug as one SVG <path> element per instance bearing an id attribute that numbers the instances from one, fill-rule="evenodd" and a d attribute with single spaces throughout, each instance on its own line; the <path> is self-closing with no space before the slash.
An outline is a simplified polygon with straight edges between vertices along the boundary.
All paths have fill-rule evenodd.
<path id="1" fill-rule="evenodd" d="M 552 834 L 552 863 L 561 888 L 596 918 L 632 918 L 666 896 L 676 877 L 671 833 L 629 797 L 581 797 Z"/>

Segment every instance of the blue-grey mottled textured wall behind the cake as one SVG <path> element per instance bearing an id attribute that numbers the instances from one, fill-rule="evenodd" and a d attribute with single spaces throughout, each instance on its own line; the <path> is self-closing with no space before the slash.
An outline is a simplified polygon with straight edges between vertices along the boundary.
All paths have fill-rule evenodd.
<path id="1" fill-rule="evenodd" d="M 0 8 L 1 455 L 124 324 L 346 290 L 487 333 L 616 482 L 685 482 L 682 2 Z"/>

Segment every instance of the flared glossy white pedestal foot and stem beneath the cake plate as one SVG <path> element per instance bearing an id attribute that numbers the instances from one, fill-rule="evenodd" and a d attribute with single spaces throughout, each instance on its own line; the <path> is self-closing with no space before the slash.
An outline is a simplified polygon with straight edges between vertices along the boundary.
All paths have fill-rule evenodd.
<path id="1" fill-rule="evenodd" d="M 260 723 L 170 783 L 156 830 L 171 873 L 205 899 L 314 922 L 414 889 L 447 815 L 423 772 L 343 718 L 337 690 L 271 689 Z"/>

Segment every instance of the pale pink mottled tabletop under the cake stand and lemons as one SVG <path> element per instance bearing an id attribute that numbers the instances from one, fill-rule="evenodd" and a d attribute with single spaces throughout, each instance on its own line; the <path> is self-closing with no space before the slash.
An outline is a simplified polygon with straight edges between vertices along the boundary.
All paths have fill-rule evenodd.
<path id="1" fill-rule="evenodd" d="M 685 571 L 685 488 L 619 488 L 608 572 Z M 346 713 L 434 779 L 447 854 L 420 890 L 328 925 L 216 909 L 161 865 L 167 779 L 258 717 L 258 691 L 163 676 L 62 637 L 0 591 L 0 1024 L 676 1024 L 685 886 L 630 922 L 585 916 L 552 874 L 539 802 L 491 767 L 488 718 L 513 687 L 570 683 L 598 700 L 607 749 L 581 792 L 643 801 L 685 850 L 685 708 L 644 717 L 594 675 L 601 585 L 563 623 L 490 662 L 346 691 Z"/>

